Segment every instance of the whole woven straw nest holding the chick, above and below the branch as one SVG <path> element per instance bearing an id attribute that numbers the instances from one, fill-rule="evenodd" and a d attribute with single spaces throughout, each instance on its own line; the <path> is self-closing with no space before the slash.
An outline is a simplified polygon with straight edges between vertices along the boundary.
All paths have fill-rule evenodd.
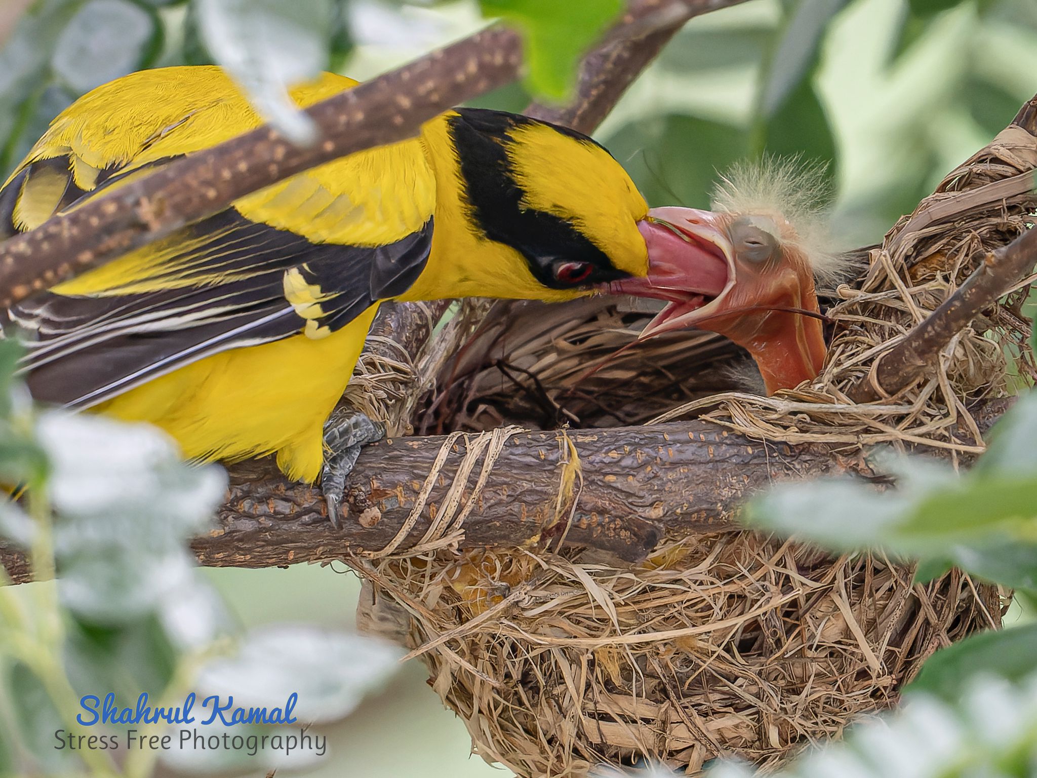
<path id="1" fill-rule="evenodd" d="M 1035 373 L 1019 308 L 1034 279 L 959 333 L 915 386 L 868 407 L 846 392 L 986 252 L 1024 231 L 1037 210 L 1034 167 L 1034 138 L 1002 133 L 861 254 L 858 280 L 828 291 L 832 346 L 812 387 L 718 394 L 736 381 L 726 365 L 738 357 L 716 336 L 617 358 L 645 312 L 509 305 L 441 376 L 424 432 L 698 415 L 839 452 L 889 443 L 968 459 L 983 446 L 972 404 Z M 998 626 L 1004 605 L 1004 592 L 957 572 L 916 584 L 880 556 L 832 558 L 752 532 L 670 537 L 640 565 L 581 549 L 449 546 L 357 563 L 364 622 L 391 622 L 474 750 L 521 776 L 646 762 L 694 774 L 721 753 L 772 765 L 889 705 L 932 651 Z"/>

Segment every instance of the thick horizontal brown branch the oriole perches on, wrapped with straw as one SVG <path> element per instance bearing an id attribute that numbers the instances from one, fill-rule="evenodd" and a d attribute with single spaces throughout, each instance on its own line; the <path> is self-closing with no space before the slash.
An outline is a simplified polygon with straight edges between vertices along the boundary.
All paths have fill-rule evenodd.
<path id="1" fill-rule="evenodd" d="M 986 429 L 1010 407 L 991 400 L 974 414 Z M 559 509 L 562 433 L 511 438 L 494 464 L 475 509 L 465 522 L 464 548 L 537 543 L 597 549 L 643 559 L 664 536 L 737 530 L 739 504 L 775 480 L 860 472 L 863 456 L 840 456 L 826 446 L 760 443 L 704 421 L 567 433 L 582 478 Z M 319 488 L 285 479 L 270 461 L 230 470 L 230 490 L 212 532 L 191 546 L 202 564 L 272 567 L 338 559 L 385 548 L 400 531 L 445 437 L 395 438 L 365 449 L 345 488 L 341 530 L 328 521 Z M 467 447 L 459 440 L 428 495 L 420 519 L 398 551 L 418 543 L 443 509 Z M 464 492 L 472 494 L 482 460 Z M 563 495 L 564 497 L 564 495 Z M 557 518 L 556 518 L 557 517 Z M 570 518 L 571 517 L 571 518 Z M 29 578 L 24 555 L 0 545 L 0 563 L 15 582 Z"/>

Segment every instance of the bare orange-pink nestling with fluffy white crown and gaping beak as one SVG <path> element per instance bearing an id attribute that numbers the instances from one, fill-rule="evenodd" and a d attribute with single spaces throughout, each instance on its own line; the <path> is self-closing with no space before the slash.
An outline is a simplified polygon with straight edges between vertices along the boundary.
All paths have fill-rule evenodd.
<path id="1" fill-rule="evenodd" d="M 842 268 L 825 247 L 821 172 L 766 159 L 729 171 L 713 211 L 652 209 L 641 232 L 654 257 L 674 258 L 670 279 L 608 284 L 669 301 L 641 338 L 688 327 L 725 335 L 756 360 L 768 394 L 815 378 L 825 346 L 814 282 Z"/>

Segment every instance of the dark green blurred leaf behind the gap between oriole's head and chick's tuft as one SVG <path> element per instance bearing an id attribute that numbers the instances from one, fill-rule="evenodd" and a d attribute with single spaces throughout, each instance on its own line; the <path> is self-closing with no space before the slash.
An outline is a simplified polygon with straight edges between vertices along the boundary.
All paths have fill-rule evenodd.
<path id="1" fill-rule="evenodd" d="M 749 136 L 730 124 L 671 114 L 630 122 L 606 145 L 650 205 L 707 209 L 717 171 L 746 156 Z"/>

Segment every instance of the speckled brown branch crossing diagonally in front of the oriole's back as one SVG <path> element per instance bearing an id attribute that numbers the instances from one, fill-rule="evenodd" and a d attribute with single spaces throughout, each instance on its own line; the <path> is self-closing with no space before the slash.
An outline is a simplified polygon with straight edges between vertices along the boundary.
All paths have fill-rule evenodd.
<path id="1" fill-rule="evenodd" d="M 609 39 L 658 35 L 653 20 L 675 29 L 675 18 L 742 1 L 638 0 Z M 679 12 L 662 12 L 671 6 Z M 263 126 L 53 217 L 0 245 L 0 307 L 219 213 L 289 175 L 411 137 L 423 121 L 513 81 L 522 61 L 518 33 L 489 28 L 311 106 L 306 113 L 321 138 L 313 145 L 296 146 Z"/>

